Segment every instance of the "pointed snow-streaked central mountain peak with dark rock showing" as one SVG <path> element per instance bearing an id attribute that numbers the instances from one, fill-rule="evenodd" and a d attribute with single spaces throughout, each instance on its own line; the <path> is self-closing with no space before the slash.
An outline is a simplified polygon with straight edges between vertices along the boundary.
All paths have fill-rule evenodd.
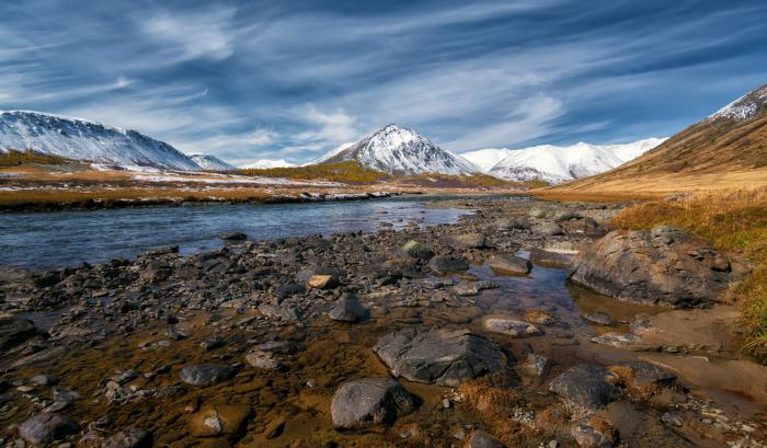
<path id="1" fill-rule="evenodd" d="M 412 129 L 388 125 L 362 140 L 331 151 L 317 163 L 356 160 L 360 165 L 390 174 L 471 174 L 471 162 L 434 145 Z"/>

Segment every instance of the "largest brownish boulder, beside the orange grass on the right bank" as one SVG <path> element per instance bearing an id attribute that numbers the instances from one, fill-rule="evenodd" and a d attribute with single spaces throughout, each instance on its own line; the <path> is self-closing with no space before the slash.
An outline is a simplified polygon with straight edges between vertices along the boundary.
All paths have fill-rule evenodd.
<path id="1" fill-rule="evenodd" d="M 733 279 L 729 259 L 703 239 L 667 226 L 616 230 L 577 256 L 571 279 L 643 303 L 710 303 Z"/>

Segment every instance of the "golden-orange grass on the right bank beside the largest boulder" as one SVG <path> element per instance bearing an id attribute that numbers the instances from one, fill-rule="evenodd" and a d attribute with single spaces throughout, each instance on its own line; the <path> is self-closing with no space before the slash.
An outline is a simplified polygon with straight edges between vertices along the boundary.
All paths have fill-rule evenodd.
<path id="1" fill-rule="evenodd" d="M 762 363 L 767 361 L 766 187 L 652 200 L 622 210 L 613 225 L 622 229 L 675 226 L 711 240 L 719 249 L 746 256 L 753 263 L 753 272 L 734 289 L 748 329 L 743 349 Z"/>

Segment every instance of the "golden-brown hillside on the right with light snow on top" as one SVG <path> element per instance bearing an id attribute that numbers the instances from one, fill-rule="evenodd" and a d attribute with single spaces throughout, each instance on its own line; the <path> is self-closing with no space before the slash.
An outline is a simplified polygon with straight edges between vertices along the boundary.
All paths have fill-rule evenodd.
<path id="1" fill-rule="evenodd" d="M 745 185 L 767 180 L 767 84 L 739 97 L 701 122 L 610 172 L 572 184 L 573 188 L 596 189 L 609 185 L 628 189 L 638 181 L 645 185 L 686 177 L 716 182 L 726 179 Z M 669 181 L 672 182 L 672 181 Z M 676 184 L 669 187 L 683 188 Z M 712 185 L 708 185 L 712 186 Z"/>

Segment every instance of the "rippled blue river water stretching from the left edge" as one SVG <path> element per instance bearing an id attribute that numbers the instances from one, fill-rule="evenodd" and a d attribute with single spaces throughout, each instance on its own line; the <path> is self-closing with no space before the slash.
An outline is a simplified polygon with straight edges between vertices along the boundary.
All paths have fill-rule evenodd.
<path id="1" fill-rule="evenodd" d="M 435 208 L 425 197 L 313 204 L 147 207 L 0 215 L 0 265 L 71 266 L 133 257 L 152 248 L 215 249 L 222 233 L 251 239 L 373 231 L 455 222 L 467 209 Z"/>

